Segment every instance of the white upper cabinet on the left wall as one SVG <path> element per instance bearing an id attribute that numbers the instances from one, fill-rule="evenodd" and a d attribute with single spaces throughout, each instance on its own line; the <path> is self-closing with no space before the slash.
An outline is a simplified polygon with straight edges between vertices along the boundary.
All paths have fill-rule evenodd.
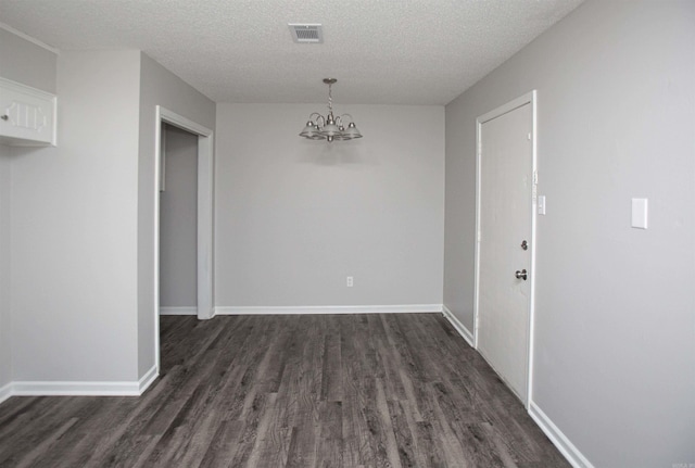
<path id="1" fill-rule="evenodd" d="M 0 142 L 55 146 L 55 96 L 0 77 Z"/>

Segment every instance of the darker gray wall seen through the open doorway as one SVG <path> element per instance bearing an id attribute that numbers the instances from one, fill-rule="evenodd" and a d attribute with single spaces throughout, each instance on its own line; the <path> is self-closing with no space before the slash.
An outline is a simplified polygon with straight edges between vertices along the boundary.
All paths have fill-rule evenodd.
<path id="1" fill-rule="evenodd" d="M 166 190 L 160 195 L 160 306 L 193 307 L 197 298 L 198 137 L 165 127 Z"/>

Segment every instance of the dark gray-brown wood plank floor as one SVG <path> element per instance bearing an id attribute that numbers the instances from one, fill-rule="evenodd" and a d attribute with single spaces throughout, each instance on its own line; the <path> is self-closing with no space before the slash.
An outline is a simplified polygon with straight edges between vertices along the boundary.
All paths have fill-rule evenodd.
<path id="1" fill-rule="evenodd" d="M 12 397 L 2 467 L 569 467 L 439 314 L 162 317 L 140 397 Z"/>

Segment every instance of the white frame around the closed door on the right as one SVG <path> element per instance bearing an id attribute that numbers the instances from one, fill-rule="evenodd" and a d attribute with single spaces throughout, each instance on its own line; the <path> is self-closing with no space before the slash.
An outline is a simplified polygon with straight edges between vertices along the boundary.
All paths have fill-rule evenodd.
<path id="1" fill-rule="evenodd" d="M 482 157 L 482 125 L 493 118 L 500 117 L 508 112 L 511 112 L 522 105 L 531 105 L 531 174 L 533 180 L 531 184 L 531 267 L 529 273 L 529 344 L 527 349 L 527 397 L 523 405 L 529 409 L 529 405 L 532 401 L 533 390 L 533 325 L 534 325 L 534 309 L 535 309 L 535 225 L 536 225 L 536 212 L 538 212 L 538 166 L 536 166 L 536 141 L 538 141 L 538 126 L 536 126 L 536 91 L 532 90 L 526 94 L 514 99 L 513 101 L 503 104 L 486 114 L 481 115 L 476 119 L 476 251 L 475 251 L 475 287 L 473 287 L 473 347 L 478 349 L 478 326 L 480 314 L 480 211 L 481 211 L 481 157 Z"/>

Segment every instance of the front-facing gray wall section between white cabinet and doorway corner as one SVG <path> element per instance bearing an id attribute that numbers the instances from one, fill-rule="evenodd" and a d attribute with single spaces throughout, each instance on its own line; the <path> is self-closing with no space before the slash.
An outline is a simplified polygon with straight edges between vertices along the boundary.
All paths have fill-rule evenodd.
<path id="1" fill-rule="evenodd" d="M 138 378 L 139 71 L 137 51 L 62 51 L 59 146 L 13 155 L 16 381 Z"/>

